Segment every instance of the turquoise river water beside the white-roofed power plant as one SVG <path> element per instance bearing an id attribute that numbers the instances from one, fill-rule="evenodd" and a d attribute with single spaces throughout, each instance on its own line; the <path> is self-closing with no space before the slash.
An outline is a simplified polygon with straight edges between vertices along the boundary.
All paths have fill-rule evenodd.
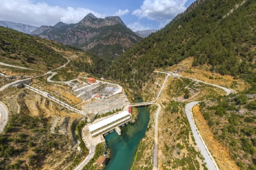
<path id="1" fill-rule="evenodd" d="M 139 98 L 138 102 L 142 102 Z M 147 107 L 138 108 L 139 115 L 135 123 L 121 128 L 122 135 L 116 132 L 108 134 L 105 139 L 111 149 L 111 159 L 104 170 L 130 170 L 142 138 L 145 137 L 149 122 L 149 110 Z"/>

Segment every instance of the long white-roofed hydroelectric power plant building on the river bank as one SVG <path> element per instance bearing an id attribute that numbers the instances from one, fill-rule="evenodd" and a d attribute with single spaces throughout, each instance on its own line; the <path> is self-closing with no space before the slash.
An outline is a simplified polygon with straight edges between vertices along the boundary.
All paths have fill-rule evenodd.
<path id="1" fill-rule="evenodd" d="M 107 135 L 108 133 L 113 132 L 114 130 L 120 135 L 121 130 L 119 127 L 124 126 L 128 123 L 132 122 L 132 117 L 129 112 L 124 111 L 118 113 L 114 116 L 108 117 L 105 120 L 102 120 L 98 123 L 94 123 L 88 126 L 88 129 L 92 135 L 92 137 L 96 137 L 100 134 Z"/>

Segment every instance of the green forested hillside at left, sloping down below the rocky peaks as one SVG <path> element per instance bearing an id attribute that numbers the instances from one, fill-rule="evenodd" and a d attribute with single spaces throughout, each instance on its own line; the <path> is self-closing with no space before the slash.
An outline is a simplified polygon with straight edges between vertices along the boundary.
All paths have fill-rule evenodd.
<path id="1" fill-rule="evenodd" d="M 0 27 L 0 62 L 49 71 L 65 64 L 71 56 L 78 56 L 71 60 L 72 69 L 99 77 L 109 65 L 108 60 L 91 52 Z"/>

